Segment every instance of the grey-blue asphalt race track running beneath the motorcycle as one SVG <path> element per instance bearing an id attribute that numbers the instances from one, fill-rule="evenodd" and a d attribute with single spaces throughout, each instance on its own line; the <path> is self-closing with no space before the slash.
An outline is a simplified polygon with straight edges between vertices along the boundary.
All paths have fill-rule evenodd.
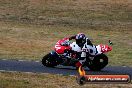
<path id="1" fill-rule="evenodd" d="M 77 75 L 74 67 L 57 66 L 55 68 L 45 67 L 37 61 L 0 60 L 0 71 L 18 71 L 33 73 L 52 73 L 61 75 Z M 129 74 L 132 77 L 132 67 L 107 66 L 101 71 L 90 71 L 85 68 L 86 74 Z"/>

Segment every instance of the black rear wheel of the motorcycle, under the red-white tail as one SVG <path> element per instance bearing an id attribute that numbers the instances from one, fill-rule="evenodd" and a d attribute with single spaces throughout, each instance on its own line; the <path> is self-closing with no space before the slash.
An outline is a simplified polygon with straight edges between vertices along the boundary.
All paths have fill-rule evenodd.
<path id="1" fill-rule="evenodd" d="M 100 71 L 108 64 L 108 57 L 105 54 L 99 54 L 88 62 L 88 68 L 92 71 Z"/>

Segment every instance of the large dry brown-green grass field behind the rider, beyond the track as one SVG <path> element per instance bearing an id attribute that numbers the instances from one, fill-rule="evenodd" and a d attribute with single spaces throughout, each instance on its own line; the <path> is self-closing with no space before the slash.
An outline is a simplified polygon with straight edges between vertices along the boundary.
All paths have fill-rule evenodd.
<path id="1" fill-rule="evenodd" d="M 131 0 L 0 1 L 0 58 L 41 58 L 57 40 L 84 32 L 114 43 L 109 65 L 132 66 Z"/>

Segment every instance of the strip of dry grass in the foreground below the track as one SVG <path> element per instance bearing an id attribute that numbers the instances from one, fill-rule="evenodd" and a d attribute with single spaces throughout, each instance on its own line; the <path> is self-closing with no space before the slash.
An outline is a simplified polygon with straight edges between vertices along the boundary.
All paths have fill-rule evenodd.
<path id="1" fill-rule="evenodd" d="M 132 84 L 85 84 L 76 77 L 46 73 L 0 72 L 0 88 L 131 88 Z"/>

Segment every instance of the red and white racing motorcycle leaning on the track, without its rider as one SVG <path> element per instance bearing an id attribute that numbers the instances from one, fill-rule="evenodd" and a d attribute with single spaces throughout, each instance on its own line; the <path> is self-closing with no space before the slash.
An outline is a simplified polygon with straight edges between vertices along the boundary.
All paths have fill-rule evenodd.
<path id="1" fill-rule="evenodd" d="M 63 65 L 76 67 L 75 64 L 79 61 L 78 58 L 81 56 L 82 51 L 86 52 L 86 61 L 83 63 L 84 67 L 88 67 L 92 71 L 99 71 L 108 64 L 108 57 L 105 53 L 112 50 L 110 45 L 87 45 L 87 47 L 85 46 L 81 49 L 76 42 L 66 44 L 65 46 L 60 46 L 59 42 L 57 42 L 58 45 L 55 45 L 55 48 L 50 53 L 43 57 L 42 64 L 44 66 L 55 67 Z M 68 57 L 64 55 L 65 52 L 68 54 Z"/>

